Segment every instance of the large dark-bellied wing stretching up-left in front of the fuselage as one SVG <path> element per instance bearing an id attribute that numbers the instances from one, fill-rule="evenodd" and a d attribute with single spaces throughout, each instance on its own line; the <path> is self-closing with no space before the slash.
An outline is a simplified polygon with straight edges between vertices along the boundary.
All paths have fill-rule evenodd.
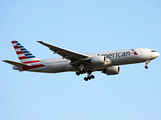
<path id="1" fill-rule="evenodd" d="M 45 43 L 43 41 L 37 41 L 37 42 L 41 43 L 42 45 L 45 45 L 50 50 L 52 50 L 54 53 L 57 53 L 60 56 L 62 56 L 63 58 L 66 58 L 71 61 L 88 60 L 90 58 L 90 56 L 88 56 L 88 55 L 84 55 L 84 54 L 76 53 L 76 52 L 73 52 L 73 51 L 70 51 L 67 49 L 63 49 L 63 48 Z"/>

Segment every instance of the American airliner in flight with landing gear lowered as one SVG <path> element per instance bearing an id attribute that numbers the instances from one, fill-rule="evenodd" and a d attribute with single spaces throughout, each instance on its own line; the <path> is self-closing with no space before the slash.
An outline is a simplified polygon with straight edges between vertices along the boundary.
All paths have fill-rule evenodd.
<path id="1" fill-rule="evenodd" d="M 43 41 L 37 42 L 48 47 L 54 54 L 58 54 L 61 57 L 39 60 L 15 40 L 11 41 L 11 43 L 20 62 L 11 60 L 3 60 L 3 62 L 14 65 L 13 70 L 19 71 L 41 73 L 75 72 L 78 76 L 87 73 L 87 77 L 84 77 L 84 80 L 88 81 L 95 78 L 92 75 L 95 71 L 101 71 L 106 75 L 117 75 L 120 73 L 120 65 L 145 62 L 145 68 L 148 69 L 148 63 L 160 56 L 159 52 L 147 48 L 81 54 Z"/>

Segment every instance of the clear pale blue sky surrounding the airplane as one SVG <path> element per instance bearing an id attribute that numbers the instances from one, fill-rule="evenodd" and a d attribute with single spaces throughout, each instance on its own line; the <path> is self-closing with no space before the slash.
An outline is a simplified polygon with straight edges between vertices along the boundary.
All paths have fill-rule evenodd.
<path id="1" fill-rule="evenodd" d="M 161 53 L 159 0 L 0 1 L 0 59 L 18 61 L 18 40 L 39 59 L 59 57 L 42 40 L 79 53 L 152 48 Z M 0 120 L 160 120 L 160 57 L 94 80 L 67 72 L 13 71 L 1 62 Z"/>

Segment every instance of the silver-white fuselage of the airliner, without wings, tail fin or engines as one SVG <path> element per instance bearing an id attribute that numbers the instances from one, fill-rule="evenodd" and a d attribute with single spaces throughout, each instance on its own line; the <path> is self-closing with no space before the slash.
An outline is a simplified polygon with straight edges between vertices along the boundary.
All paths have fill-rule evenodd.
<path id="1" fill-rule="evenodd" d="M 110 64 L 105 65 L 93 65 L 89 64 L 88 68 L 93 69 L 94 71 L 103 70 L 111 66 L 125 65 L 125 64 L 134 64 L 141 63 L 147 60 L 153 60 L 159 56 L 158 52 L 152 52 L 153 49 L 146 48 L 135 48 L 135 51 L 132 49 L 118 50 L 118 51 L 107 51 L 100 53 L 88 54 L 89 56 L 105 56 L 106 59 L 110 60 Z M 78 68 L 71 66 L 71 61 L 62 58 L 52 58 L 40 60 L 39 67 L 36 68 L 21 68 L 14 66 L 13 69 L 20 71 L 33 71 L 33 72 L 45 72 L 45 73 L 59 73 L 67 71 L 78 71 Z M 36 65 L 32 64 L 32 65 Z"/>

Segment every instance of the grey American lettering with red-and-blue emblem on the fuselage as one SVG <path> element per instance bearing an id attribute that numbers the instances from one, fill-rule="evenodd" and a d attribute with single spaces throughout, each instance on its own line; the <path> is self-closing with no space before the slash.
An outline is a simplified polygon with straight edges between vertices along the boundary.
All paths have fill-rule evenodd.
<path id="1" fill-rule="evenodd" d="M 114 53 L 101 54 L 101 56 L 105 56 L 106 58 L 118 58 L 118 57 L 126 57 L 126 56 L 131 56 L 131 55 L 138 55 L 138 53 L 134 49 L 131 49 L 131 51 L 132 52 L 130 52 L 130 51 L 125 51 L 125 52 L 116 51 Z"/>

